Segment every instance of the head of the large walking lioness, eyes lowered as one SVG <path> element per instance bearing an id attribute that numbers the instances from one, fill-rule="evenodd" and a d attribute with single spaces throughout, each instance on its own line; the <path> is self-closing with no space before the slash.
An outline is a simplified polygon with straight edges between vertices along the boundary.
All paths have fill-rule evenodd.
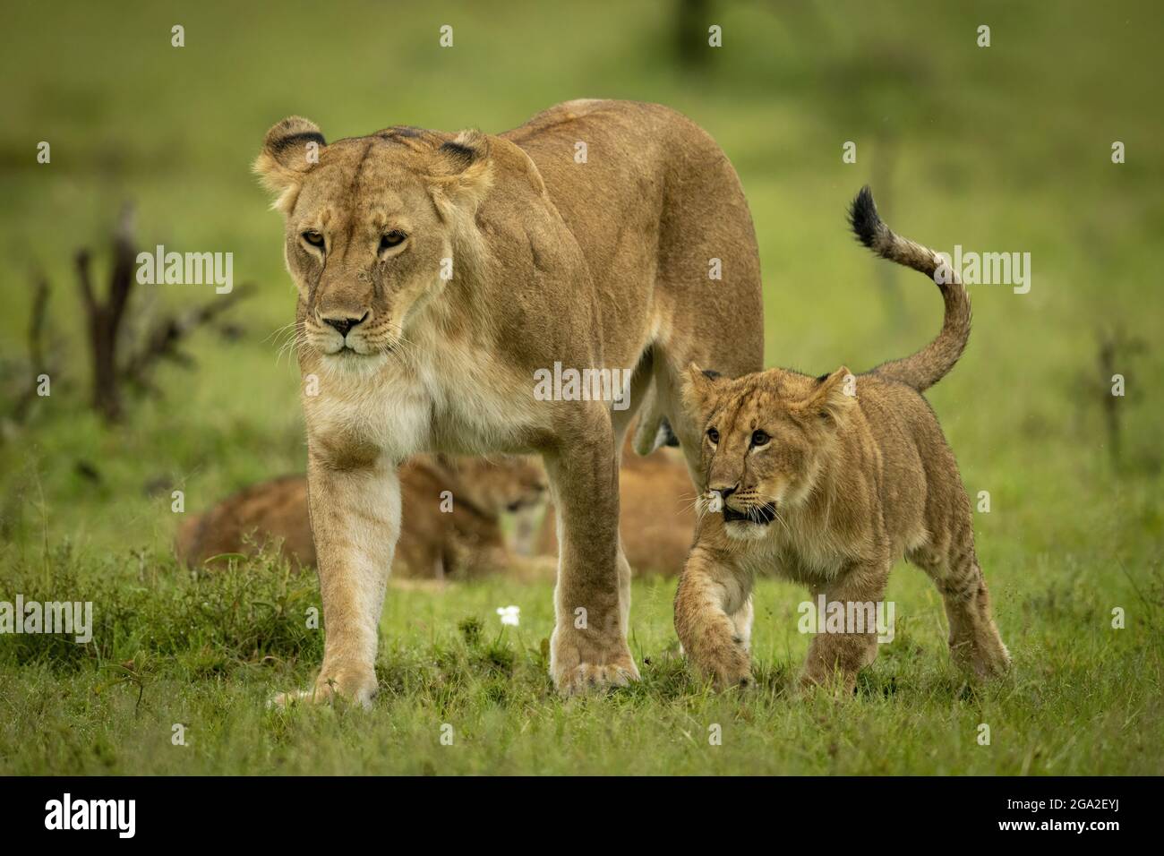
<path id="1" fill-rule="evenodd" d="M 389 128 L 328 146 L 299 116 L 267 133 L 255 171 L 286 218 L 301 340 L 335 365 L 406 339 L 410 318 L 452 276 L 491 174 L 478 132 Z"/>

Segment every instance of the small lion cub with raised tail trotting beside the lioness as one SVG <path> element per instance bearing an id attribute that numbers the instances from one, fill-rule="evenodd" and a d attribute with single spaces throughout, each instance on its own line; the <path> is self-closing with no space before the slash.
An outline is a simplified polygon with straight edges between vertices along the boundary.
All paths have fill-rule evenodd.
<path id="1" fill-rule="evenodd" d="M 866 247 L 938 283 L 942 332 L 859 376 L 845 367 L 821 377 L 776 368 L 726 380 L 689 367 L 684 402 L 704 429 L 709 493 L 675 595 L 675 630 L 718 687 L 750 678 L 754 574 L 776 571 L 808 586 L 814 601 L 823 595 L 861 618 L 881 602 L 901 557 L 942 593 L 954 660 L 979 675 L 1009 665 L 974 554 L 970 501 L 922 397 L 966 346 L 970 298 L 934 250 L 889 231 L 868 188 L 850 219 Z M 876 657 L 874 623 L 818 632 L 802 686 L 838 678 L 852 692 L 858 670 Z"/>

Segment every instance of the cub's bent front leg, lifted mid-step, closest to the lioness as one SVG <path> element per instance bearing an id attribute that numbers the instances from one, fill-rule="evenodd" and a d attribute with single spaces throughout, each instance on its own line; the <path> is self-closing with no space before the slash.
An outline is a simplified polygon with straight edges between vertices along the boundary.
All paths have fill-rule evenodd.
<path id="1" fill-rule="evenodd" d="M 687 658 L 716 689 L 747 686 L 752 576 L 696 542 L 675 592 L 675 632 Z"/>

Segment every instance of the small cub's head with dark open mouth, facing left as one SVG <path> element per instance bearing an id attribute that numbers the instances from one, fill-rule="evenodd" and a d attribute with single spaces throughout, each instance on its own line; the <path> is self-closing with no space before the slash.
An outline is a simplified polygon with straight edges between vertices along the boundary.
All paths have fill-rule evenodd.
<path id="1" fill-rule="evenodd" d="M 856 401 L 849 369 L 819 379 L 769 369 L 737 380 L 688 369 L 683 401 L 703 426 L 701 467 L 709 511 L 729 536 L 761 538 L 811 493 L 822 457 Z"/>

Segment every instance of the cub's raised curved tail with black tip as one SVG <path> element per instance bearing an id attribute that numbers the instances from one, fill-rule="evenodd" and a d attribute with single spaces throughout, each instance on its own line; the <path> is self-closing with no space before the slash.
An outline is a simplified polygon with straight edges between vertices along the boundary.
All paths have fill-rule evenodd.
<path id="1" fill-rule="evenodd" d="M 931 280 L 943 264 L 932 249 L 895 235 L 882 222 L 868 186 L 861 188 L 853 199 L 849 221 L 857 239 L 882 259 L 920 270 Z M 970 339 L 970 296 L 952 268 L 944 266 L 942 274 L 938 280 L 946 282 L 937 284 L 945 302 L 945 317 L 937 338 L 917 353 L 883 362 L 870 374 L 906 383 L 921 392 L 941 381 L 958 362 Z"/>

